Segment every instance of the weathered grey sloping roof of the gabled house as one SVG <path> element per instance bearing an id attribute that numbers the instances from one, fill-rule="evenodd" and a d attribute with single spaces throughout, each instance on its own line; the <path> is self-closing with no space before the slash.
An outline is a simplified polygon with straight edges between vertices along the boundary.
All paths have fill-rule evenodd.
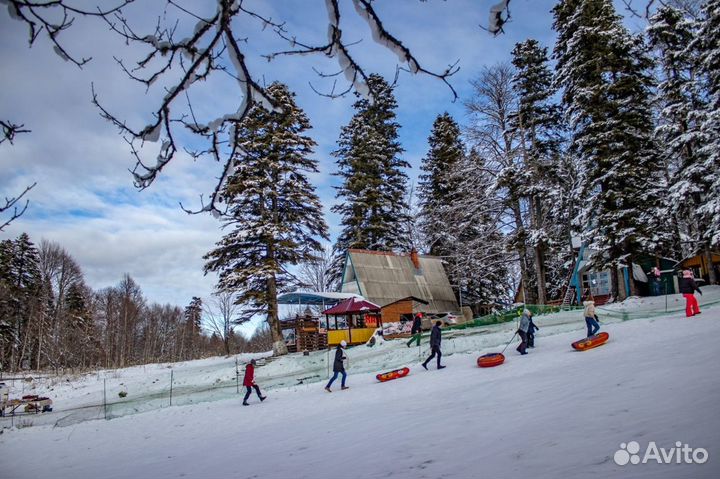
<path id="1" fill-rule="evenodd" d="M 362 295 L 380 306 L 414 296 L 428 302 L 428 313 L 458 312 L 442 260 L 422 255 L 418 262 L 416 269 L 409 255 L 351 249 L 342 292 Z"/>

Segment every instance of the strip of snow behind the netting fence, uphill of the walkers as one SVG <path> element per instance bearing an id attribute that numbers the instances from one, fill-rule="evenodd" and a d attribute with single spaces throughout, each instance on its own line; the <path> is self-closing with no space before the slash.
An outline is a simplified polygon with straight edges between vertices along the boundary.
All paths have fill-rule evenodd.
<path id="1" fill-rule="evenodd" d="M 720 305 L 720 287 L 704 287 L 703 293 L 703 296 L 699 296 L 701 308 L 707 305 Z M 667 298 L 665 296 L 629 298 L 622 303 L 599 307 L 598 315 L 604 324 L 613 324 L 628 318 L 666 315 L 666 311 L 673 317 L 683 317 L 684 298 L 681 295 L 668 295 Z M 585 328 L 581 310 L 537 316 L 535 322 L 541 328 L 537 333 L 539 342 L 551 335 L 570 331 L 580 332 Z M 465 352 L 474 354 L 478 351 L 502 350 L 513 337 L 516 329 L 515 323 L 504 323 L 482 328 L 446 331 L 443 335 L 443 353 L 448 357 Z M 418 362 L 427 356 L 426 338 L 423 339 L 420 348 L 407 348 L 405 341 L 388 341 L 373 348 L 365 346 L 351 348 L 348 352 L 350 373 L 387 371 Z M 518 342 L 517 336 L 513 339 L 513 344 L 516 342 Z M 512 351 L 512 348 L 514 346 L 509 350 Z M 242 375 L 244 365 L 252 357 L 269 355 L 270 353 L 237 355 L 228 358 L 106 370 L 82 376 L 51 377 L 32 382 L 18 381 L 12 383 L 11 397 L 39 394 L 52 398 L 54 412 L 33 416 L 30 420 L 34 425 L 61 426 L 88 419 L 118 417 L 168 407 L 171 378 L 173 405 L 226 400 L 237 396 L 236 359 Z M 259 367 L 256 372 L 257 380 L 264 389 L 271 391 L 297 385 L 301 380 L 303 383 L 324 382 L 331 374 L 332 360 L 331 351 L 317 351 L 309 356 L 288 355 Z M 106 388 L 106 400 L 111 404 L 107 408 L 102 407 L 103 387 Z M 120 392 L 126 392 L 127 396 L 121 399 L 118 395 Z M 0 427 L 14 423 L 14 419 L 0 419 Z"/>

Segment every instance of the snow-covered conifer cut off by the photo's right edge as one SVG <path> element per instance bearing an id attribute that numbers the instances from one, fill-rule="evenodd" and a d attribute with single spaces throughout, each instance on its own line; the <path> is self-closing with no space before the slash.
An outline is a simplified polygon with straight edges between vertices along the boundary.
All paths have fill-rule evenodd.
<path id="1" fill-rule="evenodd" d="M 707 86 L 708 102 L 702 132 L 707 138 L 703 146 L 706 155 L 704 170 L 711 178 L 699 213 L 709 220 L 704 238 L 712 245 L 720 245 L 720 0 L 708 0 L 697 34 L 699 67 Z M 717 278 L 714 278 L 717 282 Z"/>

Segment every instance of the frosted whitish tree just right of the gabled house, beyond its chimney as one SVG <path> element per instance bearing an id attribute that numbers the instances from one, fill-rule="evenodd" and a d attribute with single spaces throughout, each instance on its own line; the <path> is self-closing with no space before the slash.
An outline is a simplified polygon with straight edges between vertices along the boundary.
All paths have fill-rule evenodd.
<path id="1" fill-rule="evenodd" d="M 463 303 L 512 302 L 508 295 L 511 255 L 505 247 L 500 216 L 504 205 L 495 195 L 495 179 L 475 149 L 444 172 L 453 185 L 452 201 L 438 205 L 436 218 L 449 256 L 448 276 Z"/>

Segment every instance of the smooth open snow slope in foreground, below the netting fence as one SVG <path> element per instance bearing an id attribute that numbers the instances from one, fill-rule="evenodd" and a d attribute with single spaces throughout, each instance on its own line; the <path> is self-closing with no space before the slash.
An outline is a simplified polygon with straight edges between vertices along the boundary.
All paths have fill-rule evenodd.
<path id="1" fill-rule="evenodd" d="M 691 319 L 611 321 L 603 326 L 610 341 L 585 352 L 569 347 L 584 330 L 573 314 L 572 324 L 538 318 L 537 348 L 527 356 L 509 348 L 496 368 L 475 365 L 479 354 L 498 350 L 488 346 L 444 358 L 442 371 L 424 371 L 408 357 L 410 375 L 387 383 L 356 373 L 355 366 L 390 361 L 381 356 L 416 358 L 396 341 L 385 354 L 350 350 L 347 391 L 284 386 L 262 404 L 252 397 L 251 407 L 235 396 L 71 427 L 6 430 L 0 477 L 718 477 L 720 308 Z M 453 341 L 457 349 L 498 344 L 511 327 Z M 705 448 L 709 459 L 619 466 L 613 456 L 628 441 L 641 452 L 650 441 L 666 449 L 681 441 Z"/>

